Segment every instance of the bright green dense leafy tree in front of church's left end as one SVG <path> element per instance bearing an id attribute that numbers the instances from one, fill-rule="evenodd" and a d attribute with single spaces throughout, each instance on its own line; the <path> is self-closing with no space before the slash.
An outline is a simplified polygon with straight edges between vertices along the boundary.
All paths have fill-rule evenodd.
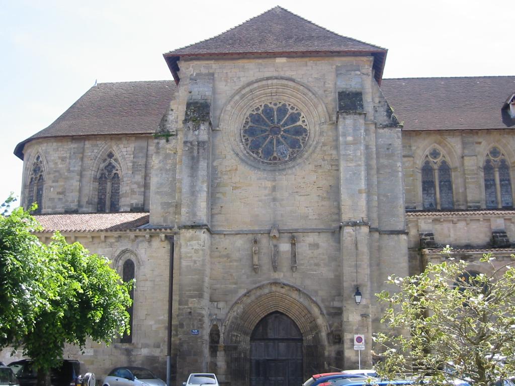
<path id="1" fill-rule="evenodd" d="M 23 345 L 24 355 L 48 372 L 65 343 L 109 343 L 128 331 L 132 283 L 123 283 L 107 258 L 68 244 L 59 233 L 40 243 L 32 235 L 37 230 L 22 208 L 0 217 L 0 343 Z"/>

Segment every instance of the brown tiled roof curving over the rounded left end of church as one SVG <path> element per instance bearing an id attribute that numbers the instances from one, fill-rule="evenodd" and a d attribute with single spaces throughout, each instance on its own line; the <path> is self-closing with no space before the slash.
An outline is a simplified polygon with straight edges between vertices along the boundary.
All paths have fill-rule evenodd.
<path id="1" fill-rule="evenodd" d="M 19 143 L 14 154 L 23 160 L 24 145 L 36 138 L 153 133 L 175 91 L 170 80 L 99 83 L 50 126 Z"/>

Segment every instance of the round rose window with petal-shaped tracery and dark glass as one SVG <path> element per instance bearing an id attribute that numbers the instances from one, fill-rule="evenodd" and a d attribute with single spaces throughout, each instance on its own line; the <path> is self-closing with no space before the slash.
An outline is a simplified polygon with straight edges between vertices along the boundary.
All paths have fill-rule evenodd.
<path id="1" fill-rule="evenodd" d="M 304 114 L 287 102 L 263 103 L 254 108 L 241 131 L 245 149 L 266 164 L 293 160 L 304 149 L 309 135 Z"/>

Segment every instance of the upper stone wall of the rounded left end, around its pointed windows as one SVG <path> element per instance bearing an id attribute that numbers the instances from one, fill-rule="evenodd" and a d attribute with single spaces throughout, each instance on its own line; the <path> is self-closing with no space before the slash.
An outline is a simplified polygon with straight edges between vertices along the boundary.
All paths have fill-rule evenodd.
<path id="1" fill-rule="evenodd" d="M 156 122 L 158 123 L 158 122 Z M 122 169 L 120 210 L 148 210 L 152 138 L 106 136 L 36 139 L 25 145 L 22 203 L 27 206 L 29 174 L 40 154 L 44 165 L 42 213 L 89 213 L 97 210 L 98 168 L 113 151 Z"/>

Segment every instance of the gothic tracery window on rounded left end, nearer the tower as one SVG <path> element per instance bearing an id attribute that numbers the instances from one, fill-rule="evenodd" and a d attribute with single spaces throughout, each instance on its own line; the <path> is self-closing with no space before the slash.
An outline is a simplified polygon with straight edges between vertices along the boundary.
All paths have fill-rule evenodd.
<path id="1" fill-rule="evenodd" d="M 98 212 L 120 210 L 120 167 L 112 151 L 102 162 L 98 176 Z"/>

